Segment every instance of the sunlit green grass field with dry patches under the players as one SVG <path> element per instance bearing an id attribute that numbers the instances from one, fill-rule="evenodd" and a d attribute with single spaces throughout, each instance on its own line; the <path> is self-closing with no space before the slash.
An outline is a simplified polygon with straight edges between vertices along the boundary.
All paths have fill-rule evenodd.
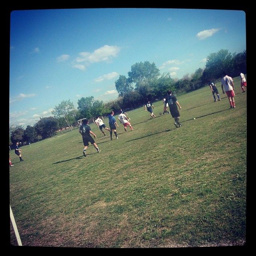
<path id="1" fill-rule="evenodd" d="M 128 112 L 134 131 L 82 155 L 78 129 L 13 150 L 10 205 L 24 246 L 170 248 L 246 243 L 246 93 L 236 109 L 216 84 L 178 96 L 181 128 L 169 114 Z M 196 120 L 194 120 L 196 118 Z M 108 120 L 104 120 L 108 127 Z M 10 225 L 10 243 L 16 239 Z"/>

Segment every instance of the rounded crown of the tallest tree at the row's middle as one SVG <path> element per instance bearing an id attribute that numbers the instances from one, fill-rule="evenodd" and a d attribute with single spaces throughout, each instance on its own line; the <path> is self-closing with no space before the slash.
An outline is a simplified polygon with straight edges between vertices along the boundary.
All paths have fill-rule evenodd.
<path id="1" fill-rule="evenodd" d="M 156 64 L 153 62 L 140 62 L 132 65 L 131 71 L 128 72 L 129 83 L 144 82 L 145 80 L 152 80 L 160 75 L 160 71 L 156 68 Z"/>

